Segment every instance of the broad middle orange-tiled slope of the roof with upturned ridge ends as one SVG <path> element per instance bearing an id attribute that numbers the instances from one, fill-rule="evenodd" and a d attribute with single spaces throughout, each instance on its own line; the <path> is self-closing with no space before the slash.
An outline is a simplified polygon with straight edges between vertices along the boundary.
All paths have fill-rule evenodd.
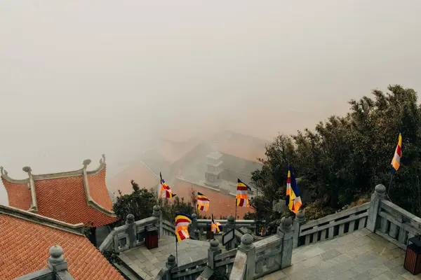
<path id="1" fill-rule="evenodd" d="M 94 227 L 114 223 L 117 220 L 88 206 L 83 176 L 35 181 L 35 192 L 38 214 L 42 216 L 72 224 L 90 225 L 92 222 Z M 95 202 L 98 203 L 98 200 Z"/>

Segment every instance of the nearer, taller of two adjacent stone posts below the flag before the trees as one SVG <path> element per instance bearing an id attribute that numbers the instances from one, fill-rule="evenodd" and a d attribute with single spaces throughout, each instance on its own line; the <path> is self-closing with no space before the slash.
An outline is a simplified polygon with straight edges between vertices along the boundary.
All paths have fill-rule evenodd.
<path id="1" fill-rule="evenodd" d="M 276 234 L 281 237 L 281 260 L 277 260 L 277 262 L 281 265 L 281 269 L 284 269 L 291 265 L 291 260 L 293 258 L 293 220 L 291 218 L 283 217 Z"/>

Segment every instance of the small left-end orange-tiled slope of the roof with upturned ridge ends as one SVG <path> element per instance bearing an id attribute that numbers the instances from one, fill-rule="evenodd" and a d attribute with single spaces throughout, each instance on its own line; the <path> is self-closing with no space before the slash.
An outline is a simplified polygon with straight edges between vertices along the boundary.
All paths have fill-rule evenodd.
<path id="1" fill-rule="evenodd" d="M 4 188 L 8 194 L 8 202 L 11 207 L 28 210 L 31 207 L 31 191 L 26 183 L 11 183 L 1 177 Z"/>

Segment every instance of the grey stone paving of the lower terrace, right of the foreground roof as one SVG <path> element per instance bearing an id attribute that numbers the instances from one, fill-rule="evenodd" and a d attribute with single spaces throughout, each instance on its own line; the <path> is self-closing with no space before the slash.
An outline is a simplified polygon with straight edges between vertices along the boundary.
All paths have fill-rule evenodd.
<path id="1" fill-rule="evenodd" d="M 222 245 L 220 245 L 222 247 Z M 208 255 L 209 242 L 185 239 L 178 243 L 178 263 L 204 258 Z M 119 257 L 145 280 L 154 279 L 156 274 L 165 266 L 169 255 L 175 256 L 175 237 L 162 237 L 158 248 L 148 250 L 145 245 L 131 248 L 120 253 Z"/>

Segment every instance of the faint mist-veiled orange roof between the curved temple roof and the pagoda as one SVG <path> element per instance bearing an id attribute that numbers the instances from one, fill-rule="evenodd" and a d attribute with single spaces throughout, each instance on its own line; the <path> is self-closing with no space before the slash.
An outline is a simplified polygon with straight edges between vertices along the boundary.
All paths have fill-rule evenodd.
<path id="1" fill-rule="evenodd" d="M 142 162 L 136 162 L 130 165 L 122 172 L 112 176 L 107 182 L 110 190 L 115 195 L 118 195 L 118 190 L 121 190 L 123 195 L 130 195 L 133 193 L 131 180 L 139 184 L 140 188 L 154 188 L 159 184 L 159 178 L 155 176 Z"/>

